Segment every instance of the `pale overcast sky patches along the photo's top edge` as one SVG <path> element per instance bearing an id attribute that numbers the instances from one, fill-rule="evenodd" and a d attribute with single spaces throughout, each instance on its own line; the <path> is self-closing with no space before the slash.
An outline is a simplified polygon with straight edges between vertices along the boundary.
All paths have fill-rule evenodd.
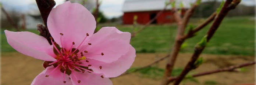
<path id="1" fill-rule="evenodd" d="M 0 0 L 3 6 L 7 10 L 15 9 L 17 11 L 28 11 L 31 9 L 37 10 L 35 0 Z M 62 4 L 65 0 L 54 0 L 56 5 Z M 125 0 L 100 0 L 102 4 L 100 5 L 100 11 L 103 11 L 104 15 L 108 18 L 118 17 L 123 14 L 122 4 Z M 192 0 L 185 0 L 192 1 Z M 255 0 L 242 0 L 242 4 L 255 5 Z"/>

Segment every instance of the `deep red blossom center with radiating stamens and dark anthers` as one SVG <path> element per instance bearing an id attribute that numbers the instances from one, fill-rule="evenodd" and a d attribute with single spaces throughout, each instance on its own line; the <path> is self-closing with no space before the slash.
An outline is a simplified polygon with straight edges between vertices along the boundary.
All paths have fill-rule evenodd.
<path id="1" fill-rule="evenodd" d="M 61 46 L 63 46 L 63 42 L 62 42 L 62 36 L 64 35 L 63 33 L 60 33 L 61 37 L 60 37 L 60 43 Z M 55 62 L 48 62 L 45 61 L 43 66 L 49 67 L 51 65 L 53 65 L 55 68 L 49 73 L 47 74 L 45 77 L 49 77 L 51 75 L 51 73 L 57 69 L 60 69 L 60 71 L 62 73 L 64 73 L 64 77 L 63 77 L 63 82 L 66 83 L 65 81 L 65 74 L 70 75 L 72 72 L 74 71 L 78 71 L 78 72 L 82 72 L 85 73 L 85 71 L 87 71 L 88 73 L 93 73 L 96 75 L 99 75 L 97 73 L 94 73 L 92 69 L 89 69 L 89 66 L 92 66 L 92 64 L 88 64 L 89 60 L 86 59 L 86 56 L 93 56 L 93 55 L 104 55 L 104 53 L 99 53 L 99 54 L 93 54 L 93 55 L 87 55 L 86 53 L 88 53 L 88 51 L 79 51 L 79 47 L 83 44 L 83 42 L 86 40 L 87 36 L 89 36 L 88 33 L 86 33 L 86 37 L 83 39 L 83 41 L 78 45 L 77 48 L 72 48 L 73 45 L 75 44 L 75 42 L 72 42 L 71 45 L 71 49 L 67 50 L 65 48 L 60 48 L 60 45 L 58 45 L 56 42 L 53 42 L 53 38 L 50 37 L 51 39 L 51 43 L 53 44 L 53 51 L 56 55 L 55 59 L 57 59 Z M 87 46 L 92 45 L 91 43 L 88 43 Z M 87 47 L 86 46 L 86 47 Z M 85 49 L 81 48 L 81 49 Z M 102 66 L 99 67 L 100 69 L 102 69 Z M 72 74 L 73 75 L 73 74 Z M 100 77 L 104 78 L 103 75 L 99 75 Z M 77 79 L 76 75 L 74 74 L 74 77 L 76 78 L 76 80 L 78 80 L 77 82 L 80 83 L 81 80 Z"/>

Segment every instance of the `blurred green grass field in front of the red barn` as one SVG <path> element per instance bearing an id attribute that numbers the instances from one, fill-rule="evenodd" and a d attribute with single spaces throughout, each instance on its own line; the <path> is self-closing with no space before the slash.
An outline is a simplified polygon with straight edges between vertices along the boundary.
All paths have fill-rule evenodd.
<path id="1" fill-rule="evenodd" d="M 253 19 L 252 19 L 253 18 Z M 192 19 L 192 25 L 198 25 L 202 20 Z M 206 35 L 211 24 L 197 33 L 195 37 L 185 41 L 181 52 L 193 52 L 193 47 Z M 102 25 L 103 26 L 103 25 Z M 131 32 L 132 25 L 116 26 L 123 32 Z M 169 52 L 174 42 L 177 26 L 151 25 L 132 38 L 131 44 L 136 52 Z M 39 34 L 36 30 L 24 30 Z M 6 36 L 1 30 L 1 52 L 14 52 L 8 45 Z M 255 20 L 253 16 L 226 17 L 216 34 L 210 40 L 203 53 L 220 55 L 255 55 Z"/>

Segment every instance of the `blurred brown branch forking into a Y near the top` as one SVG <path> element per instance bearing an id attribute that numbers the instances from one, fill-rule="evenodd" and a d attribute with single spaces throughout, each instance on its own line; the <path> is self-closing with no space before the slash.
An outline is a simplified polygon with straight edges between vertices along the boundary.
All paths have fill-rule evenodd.
<path id="1" fill-rule="evenodd" d="M 200 0 L 196 0 L 196 2 L 193 4 L 193 6 L 191 8 L 189 8 L 189 10 L 186 11 L 186 14 L 182 19 L 177 12 L 174 12 L 174 18 L 178 25 L 177 36 L 175 38 L 173 49 L 170 53 L 170 59 L 167 61 L 167 64 L 166 64 L 166 69 L 165 69 L 165 73 L 164 73 L 163 81 L 161 82 L 161 85 L 168 85 L 170 83 L 168 80 L 168 77 L 171 76 L 171 73 L 172 73 L 172 70 L 174 67 L 174 63 L 178 56 L 181 45 L 184 42 L 184 39 L 182 39 L 181 37 L 184 35 L 185 28 L 189 21 L 189 18 L 192 16 L 195 8 L 198 6 L 198 3 L 197 3 L 198 1 L 200 1 Z M 170 2 L 173 2 L 173 0 L 170 0 Z M 175 6 L 173 7 L 173 10 L 175 10 L 175 11 L 177 10 L 175 8 Z"/>

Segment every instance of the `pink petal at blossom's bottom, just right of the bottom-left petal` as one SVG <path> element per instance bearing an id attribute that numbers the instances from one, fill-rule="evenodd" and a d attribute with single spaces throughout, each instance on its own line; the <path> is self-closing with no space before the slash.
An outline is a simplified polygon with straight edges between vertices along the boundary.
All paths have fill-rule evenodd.
<path id="1" fill-rule="evenodd" d="M 109 78 L 101 78 L 100 75 L 88 72 L 72 71 L 70 78 L 73 85 L 113 85 Z M 78 80 L 81 82 L 78 83 Z"/>

